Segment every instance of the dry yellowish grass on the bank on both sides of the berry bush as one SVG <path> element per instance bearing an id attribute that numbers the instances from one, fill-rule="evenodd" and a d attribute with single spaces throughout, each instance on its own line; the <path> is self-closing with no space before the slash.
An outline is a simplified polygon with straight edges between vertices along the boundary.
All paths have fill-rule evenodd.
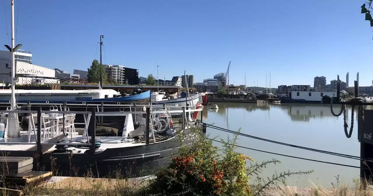
<path id="1" fill-rule="evenodd" d="M 27 187 L 27 195 L 60 195 L 60 196 L 102 196 L 123 195 L 142 196 L 152 195 L 147 192 L 147 179 L 128 180 L 110 178 L 68 177 L 61 181 L 48 181 L 37 187 Z M 266 196 L 373 196 L 373 187 L 361 189 L 357 183 L 356 189 L 348 189 L 346 184 L 333 184 L 333 188 L 325 189 L 320 186 L 296 187 L 277 186 L 270 187 L 257 195 Z M 365 184 L 364 184 L 365 185 Z"/>

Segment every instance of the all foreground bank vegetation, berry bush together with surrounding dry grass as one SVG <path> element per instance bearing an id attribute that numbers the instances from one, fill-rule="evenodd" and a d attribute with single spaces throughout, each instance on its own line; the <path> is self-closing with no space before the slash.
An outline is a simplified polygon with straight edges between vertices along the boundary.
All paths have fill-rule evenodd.
<path id="1" fill-rule="evenodd" d="M 348 190 L 335 183 L 333 189 L 320 187 L 299 188 L 286 186 L 286 177 L 307 175 L 312 171 L 285 171 L 264 179 L 259 177 L 269 164 L 280 164 L 273 159 L 261 163 L 250 156 L 236 152 L 237 135 L 223 142 L 222 148 L 204 136 L 201 130 L 192 130 L 194 140 L 182 146 L 170 162 L 154 171 L 153 178 L 141 180 L 116 178 L 70 177 L 41 186 L 26 187 L 27 195 L 185 195 L 185 196 L 255 196 L 255 195 L 373 195 L 369 191 Z M 185 141 L 184 134 L 179 134 Z M 215 139 L 216 140 L 216 139 Z M 359 182 L 357 182 L 359 183 Z M 335 186 L 335 187 L 334 187 Z M 357 186 L 359 187 L 359 186 Z M 373 192 L 372 192 L 373 193 Z"/>

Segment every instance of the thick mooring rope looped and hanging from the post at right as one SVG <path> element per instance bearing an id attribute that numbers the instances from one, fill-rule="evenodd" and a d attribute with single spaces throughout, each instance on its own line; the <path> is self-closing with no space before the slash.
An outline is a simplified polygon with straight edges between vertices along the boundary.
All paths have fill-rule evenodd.
<path id="1" fill-rule="evenodd" d="M 354 111 L 355 111 L 355 106 L 358 105 L 359 103 L 362 103 L 364 102 L 363 98 L 361 97 L 356 97 L 356 98 L 352 98 L 350 100 L 350 102 L 352 103 L 351 106 L 352 106 L 352 109 L 351 109 L 351 126 L 350 126 L 350 131 L 347 132 L 347 127 L 348 127 L 348 124 L 347 124 L 347 120 L 346 120 L 346 105 L 341 105 L 341 111 L 338 113 L 338 114 L 335 114 L 334 111 L 333 111 L 333 99 L 335 97 L 331 97 L 331 100 L 330 100 L 330 112 L 332 112 L 333 116 L 340 116 L 342 113 L 343 113 L 343 121 L 344 121 L 344 130 L 345 130 L 345 134 L 346 134 L 346 137 L 347 138 L 350 138 L 351 135 L 352 135 L 352 130 L 354 128 Z M 359 109 L 362 111 L 362 114 L 361 114 L 361 118 L 364 122 L 364 109 L 359 106 Z"/>

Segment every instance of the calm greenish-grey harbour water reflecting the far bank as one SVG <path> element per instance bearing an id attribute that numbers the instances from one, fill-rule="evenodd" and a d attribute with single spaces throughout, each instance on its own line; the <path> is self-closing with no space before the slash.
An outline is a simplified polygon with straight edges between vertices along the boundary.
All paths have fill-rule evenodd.
<path id="1" fill-rule="evenodd" d="M 219 109 L 204 113 L 203 120 L 209 124 L 214 123 L 218 127 L 234 131 L 241 128 L 241 133 L 298 146 L 360 156 L 357 123 L 355 123 L 352 137 L 347 138 L 343 128 L 343 115 L 333 116 L 330 113 L 329 106 L 286 103 L 263 105 L 213 102 L 213 104 L 217 104 Z M 339 112 L 340 106 L 334 108 L 335 113 Z M 346 112 L 347 121 L 350 125 L 351 107 L 348 107 Z M 232 136 L 232 134 L 212 128 L 208 128 L 207 134 L 210 134 L 210 138 L 219 136 L 222 139 L 229 135 Z M 215 145 L 221 146 L 217 142 Z M 243 136 L 239 136 L 238 145 L 302 158 L 360 166 L 360 162 L 355 159 L 326 155 Z M 314 170 L 312 174 L 307 176 L 289 177 L 287 182 L 289 185 L 307 186 L 314 183 L 323 187 L 330 187 L 330 183 L 335 182 L 334 176 L 339 175 L 343 183 L 353 186 L 352 180 L 358 178 L 360 173 L 358 168 L 288 158 L 242 148 L 237 150 L 251 156 L 257 162 L 271 160 L 272 158 L 281 161 L 281 164 L 267 167 L 263 172 L 263 177 L 271 177 L 275 171 L 281 172 L 289 169 L 291 171 Z"/>

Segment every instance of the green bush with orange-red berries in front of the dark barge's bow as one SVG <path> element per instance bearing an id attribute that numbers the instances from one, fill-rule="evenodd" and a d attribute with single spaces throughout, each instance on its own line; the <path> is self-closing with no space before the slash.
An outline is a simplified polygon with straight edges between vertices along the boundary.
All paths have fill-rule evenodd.
<path id="1" fill-rule="evenodd" d="M 192 141 L 188 141 L 193 136 Z M 277 160 L 257 164 L 252 158 L 235 151 L 237 134 L 231 140 L 223 141 L 222 149 L 213 146 L 199 128 L 188 134 L 179 133 L 182 146 L 166 167 L 160 168 L 151 181 L 148 193 L 154 195 L 224 195 L 251 196 L 264 192 L 277 182 L 293 174 L 308 172 L 281 172 L 272 179 L 257 177 L 257 185 L 250 187 L 249 176 L 258 175 L 267 164 Z M 249 162 L 250 166 L 247 166 Z"/>

